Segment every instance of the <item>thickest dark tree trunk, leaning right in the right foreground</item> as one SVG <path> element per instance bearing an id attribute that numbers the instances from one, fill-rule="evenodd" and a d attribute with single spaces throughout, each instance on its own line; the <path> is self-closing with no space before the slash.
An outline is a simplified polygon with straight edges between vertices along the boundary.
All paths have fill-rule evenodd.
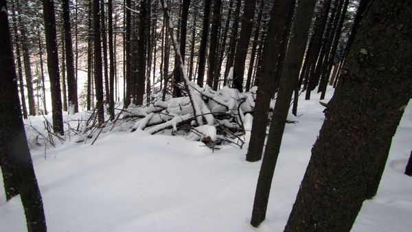
<path id="1" fill-rule="evenodd" d="M 411 1 L 376 0 L 367 8 L 285 231 L 352 228 L 412 97 L 412 54 L 404 52 L 412 49 L 411 10 Z"/>

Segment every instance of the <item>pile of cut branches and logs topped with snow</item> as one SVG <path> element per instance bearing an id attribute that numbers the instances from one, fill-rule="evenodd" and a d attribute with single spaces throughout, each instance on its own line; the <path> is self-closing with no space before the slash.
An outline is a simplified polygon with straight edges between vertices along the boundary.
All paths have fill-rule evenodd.
<path id="1" fill-rule="evenodd" d="M 214 146 L 227 141 L 242 146 L 244 141 L 244 115 L 251 113 L 255 105 L 255 92 L 240 93 L 228 86 L 214 91 L 193 82 L 192 97 L 176 97 L 168 101 L 158 100 L 147 107 L 130 105 L 122 119 L 137 119 L 132 128 L 155 135 L 164 130 L 172 130 L 174 135 L 184 135 L 186 139 L 203 141 Z M 194 112 L 196 104 L 198 113 Z"/>

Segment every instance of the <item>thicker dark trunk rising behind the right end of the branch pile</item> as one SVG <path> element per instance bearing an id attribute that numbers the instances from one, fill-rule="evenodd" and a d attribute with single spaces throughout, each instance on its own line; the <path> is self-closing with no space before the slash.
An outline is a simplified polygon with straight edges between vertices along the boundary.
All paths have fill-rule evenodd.
<path id="1" fill-rule="evenodd" d="M 243 91 L 244 62 L 253 28 L 253 16 L 255 15 L 256 0 L 244 2 L 242 15 L 242 28 L 238 45 L 236 45 L 235 63 L 233 65 L 233 88 Z"/>

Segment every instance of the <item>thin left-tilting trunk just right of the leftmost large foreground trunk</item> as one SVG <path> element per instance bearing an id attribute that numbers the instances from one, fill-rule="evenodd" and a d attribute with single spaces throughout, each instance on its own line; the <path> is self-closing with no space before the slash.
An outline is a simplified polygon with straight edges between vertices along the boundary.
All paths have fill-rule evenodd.
<path id="1" fill-rule="evenodd" d="M 21 107 L 23 108 L 23 117 L 27 119 L 27 107 L 25 104 L 25 93 L 24 93 L 24 84 L 23 84 L 23 69 L 21 65 L 21 52 L 20 52 L 20 39 L 19 39 L 19 33 L 17 32 L 17 20 L 16 20 L 16 13 L 14 11 L 14 4 L 13 1 L 10 1 L 12 3 L 12 20 L 14 23 L 14 43 L 16 44 L 15 49 L 16 49 L 16 60 L 17 60 L 17 70 L 19 73 L 19 87 L 20 87 L 20 96 L 21 96 Z"/>

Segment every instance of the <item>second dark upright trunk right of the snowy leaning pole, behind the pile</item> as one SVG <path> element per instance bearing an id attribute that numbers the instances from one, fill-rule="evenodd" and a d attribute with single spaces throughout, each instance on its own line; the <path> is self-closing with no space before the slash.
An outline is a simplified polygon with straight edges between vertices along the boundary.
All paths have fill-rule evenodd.
<path id="1" fill-rule="evenodd" d="M 206 47 L 207 34 L 209 34 L 209 14 L 210 14 L 211 0 L 205 0 L 205 7 L 203 10 L 203 27 L 201 47 L 199 48 L 199 62 L 198 62 L 198 86 L 203 87 L 203 80 L 205 78 L 205 63 L 206 63 Z"/>

